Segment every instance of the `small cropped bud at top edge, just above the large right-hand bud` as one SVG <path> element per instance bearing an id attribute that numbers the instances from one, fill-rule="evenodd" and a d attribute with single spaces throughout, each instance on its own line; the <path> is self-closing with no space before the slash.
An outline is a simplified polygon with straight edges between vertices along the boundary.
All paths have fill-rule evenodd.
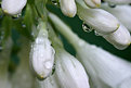
<path id="1" fill-rule="evenodd" d="M 100 8 L 101 0 L 84 0 L 86 4 L 90 8 Z"/>

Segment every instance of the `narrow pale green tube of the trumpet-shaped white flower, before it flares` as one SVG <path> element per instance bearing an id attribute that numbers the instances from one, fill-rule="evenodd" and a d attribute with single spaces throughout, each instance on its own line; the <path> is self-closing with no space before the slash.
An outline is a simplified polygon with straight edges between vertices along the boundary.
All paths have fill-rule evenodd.
<path id="1" fill-rule="evenodd" d="M 71 29 L 53 13 L 49 13 L 49 17 L 54 24 L 55 28 L 61 34 L 63 34 L 75 48 L 77 48 L 77 43 L 80 41 L 80 38 L 75 33 L 73 33 Z"/>

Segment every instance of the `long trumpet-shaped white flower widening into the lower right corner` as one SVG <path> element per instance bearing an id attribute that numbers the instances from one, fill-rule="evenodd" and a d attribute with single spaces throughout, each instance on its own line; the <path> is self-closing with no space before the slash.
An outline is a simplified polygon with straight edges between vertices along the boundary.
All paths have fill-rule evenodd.
<path id="1" fill-rule="evenodd" d="M 74 46 L 77 58 L 84 65 L 91 88 L 130 88 L 131 63 L 102 48 L 80 39 L 57 16 L 50 13 L 50 18 L 67 40 Z M 123 33 L 125 32 L 119 32 Z M 118 35 L 118 34 L 117 34 Z M 115 37 L 114 35 L 112 35 Z"/>

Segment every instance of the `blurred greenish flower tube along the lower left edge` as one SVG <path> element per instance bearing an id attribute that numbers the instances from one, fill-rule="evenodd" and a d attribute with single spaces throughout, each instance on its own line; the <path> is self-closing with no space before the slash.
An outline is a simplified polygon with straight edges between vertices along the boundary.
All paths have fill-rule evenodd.
<path id="1" fill-rule="evenodd" d="M 12 40 L 9 38 L 5 41 L 5 49 L 0 53 L 0 87 L 8 88 L 9 78 L 8 78 L 8 67 L 10 61 L 10 52 L 11 52 Z"/>

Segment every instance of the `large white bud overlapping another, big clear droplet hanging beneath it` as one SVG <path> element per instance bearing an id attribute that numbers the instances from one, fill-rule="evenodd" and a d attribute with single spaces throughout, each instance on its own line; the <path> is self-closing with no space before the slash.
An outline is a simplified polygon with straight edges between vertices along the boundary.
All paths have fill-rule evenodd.
<path id="1" fill-rule="evenodd" d="M 117 18 L 102 9 L 78 7 L 78 15 L 87 25 L 102 34 L 109 34 L 119 28 Z"/>

